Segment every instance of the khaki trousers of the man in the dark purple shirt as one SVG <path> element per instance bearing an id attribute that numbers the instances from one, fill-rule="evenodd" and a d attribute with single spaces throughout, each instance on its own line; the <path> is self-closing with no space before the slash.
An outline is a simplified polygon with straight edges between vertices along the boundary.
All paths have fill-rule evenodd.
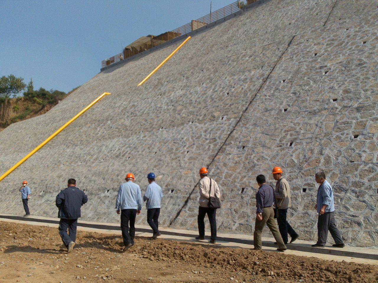
<path id="1" fill-rule="evenodd" d="M 283 243 L 281 234 L 278 230 L 276 221 L 274 220 L 274 211 L 273 207 L 266 207 L 263 208 L 262 211 L 262 220 L 255 221 L 255 231 L 253 232 L 253 245 L 256 249 L 261 249 L 262 243 L 261 243 L 261 234 L 262 230 L 264 229 L 265 224 L 268 226 L 270 231 L 273 234 L 273 237 L 276 239 L 276 242 L 280 249 L 285 249 L 286 246 Z"/>

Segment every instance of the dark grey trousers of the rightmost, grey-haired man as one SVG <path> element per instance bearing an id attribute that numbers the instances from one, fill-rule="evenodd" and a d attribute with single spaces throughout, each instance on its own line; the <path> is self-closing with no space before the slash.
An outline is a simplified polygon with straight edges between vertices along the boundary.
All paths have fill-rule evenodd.
<path id="1" fill-rule="evenodd" d="M 339 230 L 336 227 L 335 217 L 332 212 L 325 212 L 322 215 L 318 216 L 318 245 L 323 245 L 327 243 L 328 231 L 330 231 L 335 244 L 344 244 L 342 241 Z"/>

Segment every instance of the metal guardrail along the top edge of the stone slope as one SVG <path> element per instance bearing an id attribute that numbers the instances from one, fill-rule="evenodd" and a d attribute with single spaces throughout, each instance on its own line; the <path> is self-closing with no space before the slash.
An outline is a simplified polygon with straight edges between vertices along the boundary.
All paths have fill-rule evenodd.
<path id="1" fill-rule="evenodd" d="M 101 68 L 104 68 L 105 66 L 109 66 L 109 65 L 112 65 L 113 63 L 122 61 L 125 58 L 131 57 L 135 54 L 143 52 L 154 46 L 158 46 L 164 42 L 172 40 L 175 37 L 179 37 L 180 35 L 187 34 L 191 31 L 194 31 L 195 29 L 201 28 L 202 26 L 206 26 L 210 23 L 216 22 L 217 20 L 225 18 L 228 15 L 231 15 L 232 13 L 235 13 L 239 10 L 240 10 L 240 1 L 236 1 L 221 9 L 218 9 L 217 11 L 211 12 L 210 14 L 207 14 L 197 20 L 192 20 L 190 23 L 180 26 L 179 28 L 174 29 L 173 31 L 165 32 L 158 36 L 149 35 L 148 37 L 150 37 L 150 40 L 147 40 L 147 41 L 144 40 L 143 42 L 141 42 L 140 44 L 136 46 L 129 46 L 130 48 L 124 48 L 123 52 L 116 54 L 110 58 L 107 58 L 105 60 L 102 60 Z M 134 42 L 134 43 L 138 43 L 138 42 Z"/>

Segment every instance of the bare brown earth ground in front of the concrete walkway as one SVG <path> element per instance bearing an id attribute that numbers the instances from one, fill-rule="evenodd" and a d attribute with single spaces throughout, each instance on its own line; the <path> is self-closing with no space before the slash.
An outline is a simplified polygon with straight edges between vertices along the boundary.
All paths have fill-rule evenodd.
<path id="1" fill-rule="evenodd" d="M 57 228 L 0 221 L 3 282 L 378 282 L 378 266 L 77 231 L 67 254 Z"/>

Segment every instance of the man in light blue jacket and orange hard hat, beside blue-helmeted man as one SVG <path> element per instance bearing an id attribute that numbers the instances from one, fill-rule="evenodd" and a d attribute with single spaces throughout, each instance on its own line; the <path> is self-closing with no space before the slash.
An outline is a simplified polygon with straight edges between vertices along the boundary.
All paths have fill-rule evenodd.
<path id="1" fill-rule="evenodd" d="M 143 204 L 141 188 L 133 183 L 134 174 L 127 174 L 125 180 L 126 183 L 119 186 L 116 200 L 117 214 L 121 213 L 121 231 L 125 245 L 123 251 L 134 245 L 135 218 L 136 214 L 141 214 Z"/>

